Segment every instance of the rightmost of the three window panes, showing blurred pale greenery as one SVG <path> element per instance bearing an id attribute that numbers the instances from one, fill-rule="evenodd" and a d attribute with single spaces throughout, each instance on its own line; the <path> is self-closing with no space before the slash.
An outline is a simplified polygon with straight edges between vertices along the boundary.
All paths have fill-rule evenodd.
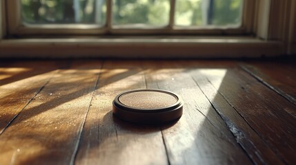
<path id="1" fill-rule="evenodd" d="M 240 25 L 243 0 L 177 0 L 175 25 Z"/>

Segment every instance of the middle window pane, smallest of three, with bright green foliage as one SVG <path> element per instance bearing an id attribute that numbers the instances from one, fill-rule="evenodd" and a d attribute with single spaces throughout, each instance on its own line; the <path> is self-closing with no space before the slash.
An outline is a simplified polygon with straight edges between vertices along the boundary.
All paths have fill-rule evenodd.
<path id="1" fill-rule="evenodd" d="M 168 25 L 170 0 L 113 0 L 113 25 Z"/>

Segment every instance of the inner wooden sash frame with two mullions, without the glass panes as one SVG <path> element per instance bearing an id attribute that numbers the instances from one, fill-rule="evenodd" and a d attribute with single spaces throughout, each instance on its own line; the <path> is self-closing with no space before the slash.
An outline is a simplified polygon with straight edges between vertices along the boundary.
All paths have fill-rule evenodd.
<path id="1" fill-rule="evenodd" d="M 176 0 L 170 0 L 170 19 L 168 26 L 163 28 L 131 28 L 120 25 L 111 25 L 112 21 L 112 0 L 106 0 L 107 13 L 106 25 L 23 25 L 21 21 L 21 5 L 19 0 L 6 0 L 8 33 L 12 35 L 130 35 L 130 34 L 197 34 L 197 35 L 246 35 L 253 34 L 254 14 L 252 8 L 255 8 L 255 0 L 244 0 L 241 18 L 241 26 L 227 28 L 185 28 L 174 26 L 175 3 Z M 17 13 L 16 13 L 17 12 Z"/>

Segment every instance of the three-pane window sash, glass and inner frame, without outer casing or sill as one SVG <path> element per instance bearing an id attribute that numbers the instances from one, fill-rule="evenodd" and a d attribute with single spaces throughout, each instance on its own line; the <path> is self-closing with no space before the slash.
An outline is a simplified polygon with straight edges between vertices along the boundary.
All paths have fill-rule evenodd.
<path id="1" fill-rule="evenodd" d="M 10 0 L 11 34 L 243 34 L 244 0 Z M 244 17 L 243 17 L 244 16 Z"/>

